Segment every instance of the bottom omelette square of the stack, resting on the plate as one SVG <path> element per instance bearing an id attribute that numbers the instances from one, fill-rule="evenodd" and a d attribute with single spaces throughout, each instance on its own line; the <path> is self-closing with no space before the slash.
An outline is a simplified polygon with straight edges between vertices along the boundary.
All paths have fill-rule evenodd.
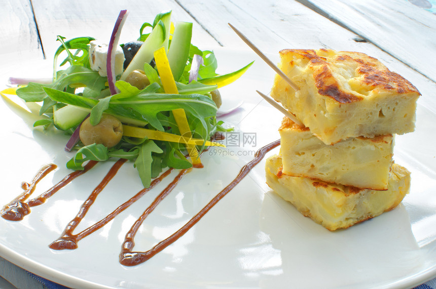
<path id="1" fill-rule="evenodd" d="M 283 174 L 281 156 L 266 161 L 267 184 L 306 217 L 333 231 L 394 209 L 409 192 L 410 173 L 393 164 L 385 191 L 359 189 Z"/>

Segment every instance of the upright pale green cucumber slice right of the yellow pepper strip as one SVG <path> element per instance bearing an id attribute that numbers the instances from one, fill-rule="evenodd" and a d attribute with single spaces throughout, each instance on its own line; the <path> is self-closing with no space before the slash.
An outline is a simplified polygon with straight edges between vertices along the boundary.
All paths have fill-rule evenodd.
<path id="1" fill-rule="evenodd" d="M 192 23 L 177 22 L 168 51 L 168 62 L 175 81 L 178 81 L 185 70 L 191 48 Z"/>

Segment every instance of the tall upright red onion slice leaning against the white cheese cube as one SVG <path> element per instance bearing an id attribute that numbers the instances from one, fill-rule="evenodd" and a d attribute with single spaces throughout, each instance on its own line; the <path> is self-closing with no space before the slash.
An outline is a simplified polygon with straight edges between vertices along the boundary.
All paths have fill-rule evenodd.
<path id="1" fill-rule="evenodd" d="M 126 17 L 129 14 L 127 10 L 121 10 L 118 15 L 117 22 L 115 22 L 114 30 L 112 31 L 111 40 L 107 50 L 107 82 L 109 84 L 109 90 L 111 94 L 117 94 L 117 88 L 115 87 L 115 52 L 117 51 L 118 40 L 120 39 L 121 28 L 126 21 Z"/>

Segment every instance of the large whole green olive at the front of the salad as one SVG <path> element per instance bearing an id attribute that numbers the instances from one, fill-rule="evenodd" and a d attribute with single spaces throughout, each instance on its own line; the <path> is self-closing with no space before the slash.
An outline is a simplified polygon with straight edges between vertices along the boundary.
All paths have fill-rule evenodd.
<path id="1" fill-rule="evenodd" d="M 110 148 L 121 141 L 123 125 L 118 118 L 111 114 L 103 114 L 96 126 L 91 125 L 88 117 L 82 122 L 79 136 L 84 145 L 96 143 Z"/>

